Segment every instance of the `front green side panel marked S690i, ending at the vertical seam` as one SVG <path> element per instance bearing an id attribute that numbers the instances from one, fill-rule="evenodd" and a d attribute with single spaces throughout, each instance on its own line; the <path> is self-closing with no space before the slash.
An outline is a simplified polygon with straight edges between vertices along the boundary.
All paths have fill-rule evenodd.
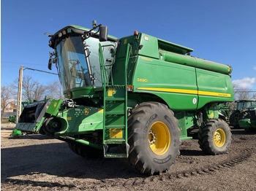
<path id="1" fill-rule="evenodd" d="M 138 57 L 137 60 L 131 82 L 135 93 L 157 95 L 173 110 L 197 108 L 197 104 L 193 104 L 193 99 L 197 99 L 195 68 L 145 57 Z M 184 78 L 183 75 L 187 77 Z M 183 90 L 192 93 L 176 92 Z M 182 104 L 179 100 L 182 100 Z"/>

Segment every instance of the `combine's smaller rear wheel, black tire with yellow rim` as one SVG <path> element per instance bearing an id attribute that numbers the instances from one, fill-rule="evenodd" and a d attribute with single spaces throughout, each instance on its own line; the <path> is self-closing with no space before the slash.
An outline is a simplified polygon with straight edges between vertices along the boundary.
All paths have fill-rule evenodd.
<path id="1" fill-rule="evenodd" d="M 230 128 L 224 120 L 211 119 L 199 128 L 198 144 L 208 155 L 227 153 L 231 143 Z"/>

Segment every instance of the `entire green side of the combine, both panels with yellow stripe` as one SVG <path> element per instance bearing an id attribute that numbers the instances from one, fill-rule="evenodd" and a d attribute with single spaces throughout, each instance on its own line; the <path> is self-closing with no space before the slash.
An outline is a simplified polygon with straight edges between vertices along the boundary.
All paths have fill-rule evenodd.
<path id="1" fill-rule="evenodd" d="M 227 74 L 153 58 L 138 56 L 136 60 L 128 84 L 134 86 L 135 93 L 159 96 L 174 111 L 200 109 L 211 102 L 233 101 L 233 87 Z"/>

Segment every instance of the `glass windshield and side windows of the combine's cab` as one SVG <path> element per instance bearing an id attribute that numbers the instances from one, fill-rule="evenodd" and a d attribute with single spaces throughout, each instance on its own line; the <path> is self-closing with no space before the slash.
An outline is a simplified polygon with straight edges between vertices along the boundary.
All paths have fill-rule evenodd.
<path id="1" fill-rule="evenodd" d="M 110 74 L 113 64 L 115 42 L 101 42 L 105 66 Z M 65 90 L 75 87 L 102 87 L 99 65 L 99 39 L 89 37 L 83 42 L 81 36 L 62 39 L 56 47 L 61 85 Z"/>

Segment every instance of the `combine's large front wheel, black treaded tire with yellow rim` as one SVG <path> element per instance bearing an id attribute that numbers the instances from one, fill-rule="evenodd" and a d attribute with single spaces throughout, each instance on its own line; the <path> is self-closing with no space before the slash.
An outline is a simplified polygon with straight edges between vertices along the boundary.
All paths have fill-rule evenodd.
<path id="1" fill-rule="evenodd" d="M 146 102 L 128 118 L 129 164 L 141 174 L 168 171 L 179 155 L 178 120 L 164 104 Z"/>

